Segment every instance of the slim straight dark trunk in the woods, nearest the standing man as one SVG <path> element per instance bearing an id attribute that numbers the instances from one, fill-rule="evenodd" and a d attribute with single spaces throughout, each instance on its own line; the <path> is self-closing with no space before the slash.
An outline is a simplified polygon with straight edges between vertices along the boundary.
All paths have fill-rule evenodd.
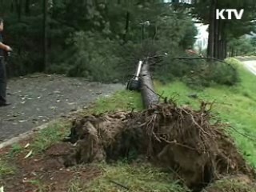
<path id="1" fill-rule="evenodd" d="M 47 54 L 47 9 L 48 0 L 43 0 L 43 64 L 44 70 L 48 70 L 48 54 Z"/>

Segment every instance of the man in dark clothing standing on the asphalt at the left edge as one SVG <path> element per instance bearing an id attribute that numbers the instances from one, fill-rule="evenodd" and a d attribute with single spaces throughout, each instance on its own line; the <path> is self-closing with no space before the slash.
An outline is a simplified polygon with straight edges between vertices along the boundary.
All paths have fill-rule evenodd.
<path id="1" fill-rule="evenodd" d="M 12 49 L 3 43 L 2 39 L 3 20 L 0 18 L 0 106 L 9 106 L 10 103 L 6 102 L 6 64 L 4 61 L 5 51 L 10 52 Z"/>

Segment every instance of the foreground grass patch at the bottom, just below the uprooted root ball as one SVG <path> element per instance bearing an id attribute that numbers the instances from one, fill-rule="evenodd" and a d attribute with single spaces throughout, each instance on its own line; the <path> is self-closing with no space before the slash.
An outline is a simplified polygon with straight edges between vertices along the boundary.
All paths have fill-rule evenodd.
<path id="1" fill-rule="evenodd" d="M 115 165 L 101 165 L 102 176 L 92 182 L 82 184 L 75 180 L 70 184 L 70 192 L 77 191 L 140 191 L 140 192 L 186 192 L 178 182 L 174 182 L 171 174 L 150 165 L 131 166 L 123 162 Z M 127 190 L 127 188 L 129 190 Z M 82 190 L 83 189 L 83 190 Z"/>

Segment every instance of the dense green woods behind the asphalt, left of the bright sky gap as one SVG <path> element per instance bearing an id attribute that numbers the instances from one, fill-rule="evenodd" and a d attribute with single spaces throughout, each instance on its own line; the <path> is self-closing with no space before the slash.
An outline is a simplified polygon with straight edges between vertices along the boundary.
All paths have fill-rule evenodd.
<path id="1" fill-rule="evenodd" d="M 149 52 L 177 54 L 176 50 L 192 46 L 196 35 L 187 13 L 174 11 L 162 1 L 54 0 L 47 11 L 49 63 L 45 69 L 42 3 L 26 2 L 30 4 L 16 5 L 18 10 L 10 2 L 0 5 L 6 20 L 6 43 L 14 48 L 9 60 L 13 76 L 46 70 L 93 81 L 121 81 L 134 74 L 139 58 L 149 54 L 141 49 L 142 42 L 154 46 L 148 47 Z M 142 33 L 141 23 L 146 21 L 150 26 Z"/>

